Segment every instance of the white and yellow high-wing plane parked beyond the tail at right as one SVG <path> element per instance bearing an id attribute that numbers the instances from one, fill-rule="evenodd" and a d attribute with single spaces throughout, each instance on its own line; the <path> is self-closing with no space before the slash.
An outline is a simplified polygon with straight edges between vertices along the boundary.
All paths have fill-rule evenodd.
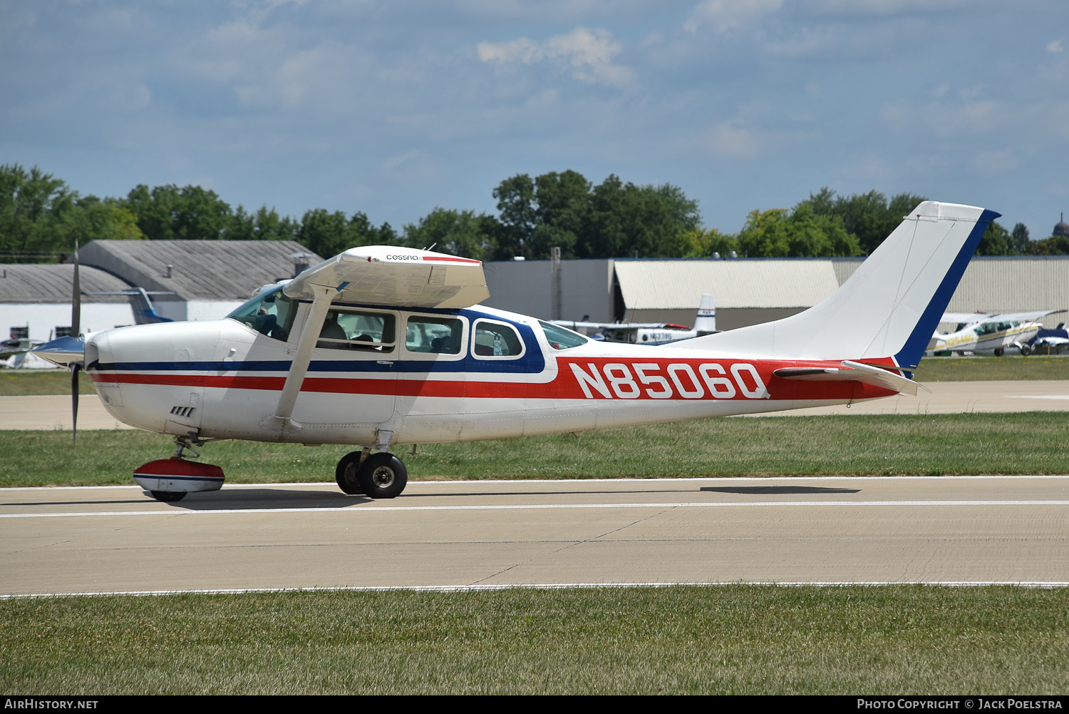
<path id="1" fill-rule="evenodd" d="M 1039 318 L 1064 309 L 1034 310 L 1031 313 L 946 313 L 943 322 L 957 322 L 954 332 L 935 332 L 928 343 L 926 354 L 936 352 L 972 352 L 1002 356 L 1007 349 L 1017 348 L 1028 356 L 1032 346 L 1028 341 L 1042 329 Z"/>

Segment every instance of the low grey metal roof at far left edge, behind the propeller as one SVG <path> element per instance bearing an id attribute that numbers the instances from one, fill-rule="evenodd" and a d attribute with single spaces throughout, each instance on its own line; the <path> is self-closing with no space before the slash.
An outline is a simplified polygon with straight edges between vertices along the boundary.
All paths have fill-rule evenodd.
<path id="1" fill-rule="evenodd" d="M 82 265 L 82 292 L 115 292 L 130 286 L 103 270 Z M 67 303 L 74 285 L 74 265 L 18 263 L 0 265 L 0 303 Z M 82 295 L 88 303 L 124 303 L 124 295 Z"/>

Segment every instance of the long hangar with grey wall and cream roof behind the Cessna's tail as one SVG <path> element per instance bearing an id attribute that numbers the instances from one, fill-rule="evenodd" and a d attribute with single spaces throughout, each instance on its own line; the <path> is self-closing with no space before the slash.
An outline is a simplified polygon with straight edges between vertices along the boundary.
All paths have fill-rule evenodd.
<path id="1" fill-rule="evenodd" d="M 832 294 L 863 258 L 595 259 L 485 263 L 501 309 L 563 320 L 692 325 L 702 292 L 721 330 L 776 320 Z M 974 257 L 949 312 L 1069 308 L 1069 256 Z M 1054 326 L 1066 315 L 1052 315 Z"/>

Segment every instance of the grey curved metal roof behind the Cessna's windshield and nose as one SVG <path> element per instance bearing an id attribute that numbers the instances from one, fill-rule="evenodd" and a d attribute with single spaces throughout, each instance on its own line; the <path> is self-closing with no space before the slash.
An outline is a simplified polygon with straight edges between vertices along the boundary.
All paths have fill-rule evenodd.
<path id="1" fill-rule="evenodd" d="M 323 260 L 295 241 L 93 241 L 79 258 L 145 290 L 175 293 L 159 300 L 244 301 L 263 285 L 293 277 L 297 253 L 309 256 L 309 265 Z"/>

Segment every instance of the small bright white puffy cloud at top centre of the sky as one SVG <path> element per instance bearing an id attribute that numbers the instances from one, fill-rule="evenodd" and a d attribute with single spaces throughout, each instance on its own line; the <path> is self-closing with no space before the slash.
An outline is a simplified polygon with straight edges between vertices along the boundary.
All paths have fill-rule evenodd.
<path id="1" fill-rule="evenodd" d="M 608 30 L 590 31 L 577 27 L 568 34 L 558 34 L 538 43 L 528 37 L 508 42 L 480 42 L 476 45 L 479 59 L 497 64 L 534 64 L 543 60 L 568 62 L 572 76 L 591 83 L 624 87 L 634 73 L 625 66 L 613 64 L 621 45 Z"/>

